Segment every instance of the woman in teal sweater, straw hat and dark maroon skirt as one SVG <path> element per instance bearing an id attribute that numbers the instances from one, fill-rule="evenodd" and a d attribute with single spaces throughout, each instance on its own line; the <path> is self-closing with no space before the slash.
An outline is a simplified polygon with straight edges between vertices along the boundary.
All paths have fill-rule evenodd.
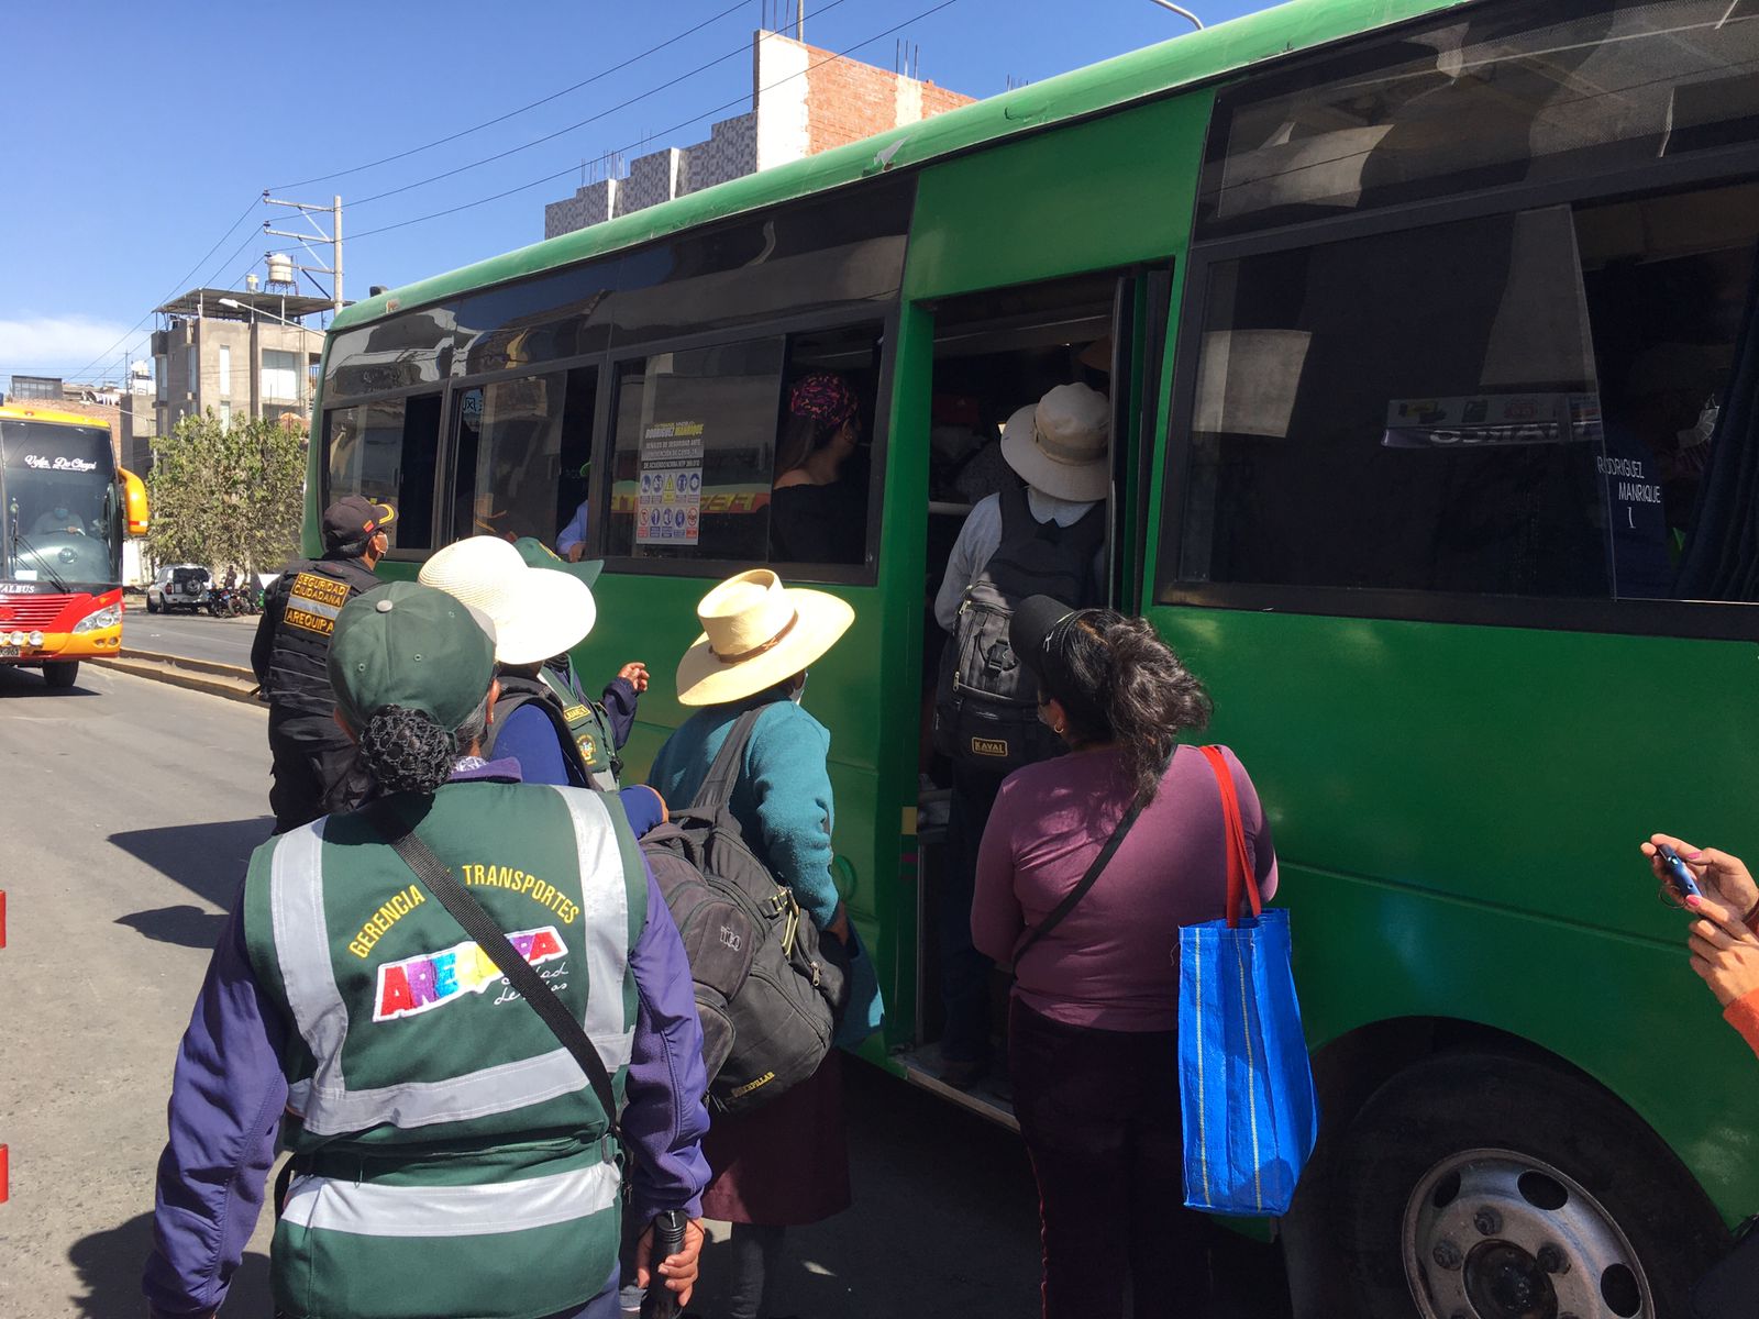
<path id="1" fill-rule="evenodd" d="M 786 589 L 776 573 L 755 568 L 709 591 L 697 617 L 702 637 L 679 661 L 677 700 L 702 709 L 660 747 L 649 783 L 668 802 L 693 800 L 734 723 L 762 709 L 730 809 L 746 844 L 813 923 L 848 943 L 848 916 L 830 879 L 830 733 L 800 709 L 800 693 L 807 665 L 843 637 L 855 610 L 823 591 Z M 704 1152 L 716 1173 L 704 1213 L 734 1224 L 726 1314 L 755 1319 L 783 1229 L 850 1205 L 837 1050 L 765 1106 L 716 1117 Z"/>

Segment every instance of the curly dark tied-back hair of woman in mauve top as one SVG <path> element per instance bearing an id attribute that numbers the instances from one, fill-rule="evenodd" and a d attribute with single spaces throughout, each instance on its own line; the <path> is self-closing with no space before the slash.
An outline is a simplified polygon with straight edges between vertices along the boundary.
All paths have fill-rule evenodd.
<path id="1" fill-rule="evenodd" d="M 1077 742 L 1117 742 L 1143 805 L 1161 786 L 1179 733 L 1208 726 L 1214 711 L 1149 621 L 1115 608 L 1082 608 L 1057 623 L 1038 670 L 1041 696 L 1062 703 Z"/>

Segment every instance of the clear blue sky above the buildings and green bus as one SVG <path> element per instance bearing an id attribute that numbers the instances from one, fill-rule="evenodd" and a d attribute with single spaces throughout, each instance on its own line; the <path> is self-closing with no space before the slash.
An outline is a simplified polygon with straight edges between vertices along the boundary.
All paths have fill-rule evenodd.
<path id="1" fill-rule="evenodd" d="M 952 0 L 916 18 L 939 2 L 807 0 L 806 39 L 834 51 L 872 39 L 853 58 L 881 67 L 908 39 L 920 46 L 922 77 L 983 97 L 1187 30 L 1150 0 Z M 1266 7 L 1186 4 L 1208 23 Z M 271 244 L 287 246 L 260 232 L 271 215 L 264 188 L 306 202 L 341 193 L 350 297 L 542 237 L 544 202 L 572 193 L 582 160 L 684 146 L 712 120 L 748 109 L 728 102 L 751 95 L 749 42 L 765 5 L 723 12 L 730 5 L 21 5 L 9 46 L 55 58 L 7 65 L 0 376 L 74 378 L 88 368 L 79 378 L 116 378 L 125 352 L 144 353 L 153 320 L 130 325 L 151 308 L 199 285 L 243 287 Z M 888 32 L 908 19 L 916 21 Z M 598 74 L 480 132 L 338 174 Z M 702 118 L 686 123 L 691 116 Z M 373 199 L 563 128 L 494 164 Z M 522 190 L 369 232 L 512 188 Z M 297 227 L 287 211 L 273 216 L 276 229 Z"/>

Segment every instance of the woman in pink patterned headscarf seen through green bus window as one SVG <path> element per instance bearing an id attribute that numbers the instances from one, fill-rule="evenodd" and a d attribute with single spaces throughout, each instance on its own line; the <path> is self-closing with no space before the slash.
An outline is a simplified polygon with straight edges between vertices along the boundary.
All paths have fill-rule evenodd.
<path id="1" fill-rule="evenodd" d="M 814 371 L 788 390 L 788 419 L 776 447 L 770 549 L 781 563 L 860 563 L 867 550 L 867 491 L 844 480 L 860 443 L 855 390 Z"/>

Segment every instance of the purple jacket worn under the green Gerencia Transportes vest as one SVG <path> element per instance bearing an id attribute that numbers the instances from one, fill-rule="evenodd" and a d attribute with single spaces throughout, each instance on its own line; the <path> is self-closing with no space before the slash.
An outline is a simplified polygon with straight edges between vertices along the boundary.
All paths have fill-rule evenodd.
<path id="1" fill-rule="evenodd" d="M 452 776 L 454 783 L 471 779 L 517 783 L 519 765 L 496 760 Z M 637 821 L 637 832 L 642 823 L 651 827 Z M 243 897 L 232 904 L 178 1048 L 171 1140 L 158 1157 L 153 1252 L 142 1279 L 160 1315 L 206 1314 L 225 1300 L 262 1210 L 287 1106 L 281 1052 L 292 1025 L 252 973 L 243 906 Z M 709 1184 L 702 1022 L 684 944 L 651 871 L 647 923 L 630 967 L 639 1004 L 623 1133 L 635 1148 L 635 1213 L 640 1222 L 668 1208 L 698 1217 Z"/>

